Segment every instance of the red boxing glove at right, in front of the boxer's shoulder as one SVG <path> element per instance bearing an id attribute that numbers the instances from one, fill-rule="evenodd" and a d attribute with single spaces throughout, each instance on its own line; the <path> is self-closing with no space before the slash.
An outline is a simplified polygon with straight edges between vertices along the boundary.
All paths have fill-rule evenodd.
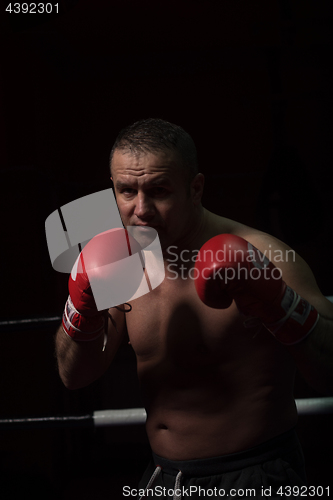
<path id="1" fill-rule="evenodd" d="M 224 309 L 232 300 L 244 315 L 259 318 L 283 344 L 296 344 L 315 327 L 318 312 L 292 290 L 251 243 L 233 234 L 207 241 L 197 255 L 195 287 L 208 306 Z"/>

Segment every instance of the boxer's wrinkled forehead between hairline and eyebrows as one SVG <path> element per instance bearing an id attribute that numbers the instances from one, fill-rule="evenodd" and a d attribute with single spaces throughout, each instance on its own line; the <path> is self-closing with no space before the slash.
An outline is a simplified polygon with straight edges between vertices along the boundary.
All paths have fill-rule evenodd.
<path id="1" fill-rule="evenodd" d="M 139 180 L 159 176 L 174 179 L 180 178 L 183 171 L 182 163 L 173 151 L 133 154 L 116 150 L 111 163 L 114 180 L 119 177 Z"/>

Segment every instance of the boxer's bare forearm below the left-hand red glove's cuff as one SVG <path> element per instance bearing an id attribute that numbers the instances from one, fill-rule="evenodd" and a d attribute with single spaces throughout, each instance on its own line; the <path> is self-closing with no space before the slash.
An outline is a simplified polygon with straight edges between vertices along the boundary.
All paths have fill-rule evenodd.
<path id="1" fill-rule="evenodd" d="M 79 389 L 99 378 L 108 367 L 104 335 L 87 342 L 72 340 L 58 329 L 55 338 L 59 375 L 68 389 Z"/>

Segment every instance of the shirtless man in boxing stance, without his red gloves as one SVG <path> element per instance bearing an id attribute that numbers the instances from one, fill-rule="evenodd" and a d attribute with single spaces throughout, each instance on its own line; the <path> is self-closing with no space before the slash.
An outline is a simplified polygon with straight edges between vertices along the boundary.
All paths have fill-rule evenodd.
<path id="1" fill-rule="evenodd" d="M 320 392 L 333 391 L 333 305 L 284 243 L 202 207 L 204 177 L 193 141 L 180 127 L 151 119 L 125 129 L 111 153 L 111 175 L 124 226 L 157 230 L 166 275 L 160 286 L 132 301 L 126 315 L 110 309 L 104 351 L 100 332 L 82 341 L 96 331 L 89 322 L 101 316 L 92 299 L 87 317 L 74 292 L 83 333 L 57 333 L 64 384 L 76 389 L 100 377 L 128 334 L 153 451 L 138 493 L 149 482 L 156 498 L 168 498 L 172 490 L 175 497 L 199 498 L 200 488 L 217 498 L 223 491 L 238 498 L 239 488 L 255 489 L 261 498 L 261 488 L 271 488 L 270 497 L 281 498 L 275 496 L 279 488 L 288 493 L 283 488 L 306 482 L 294 431 L 296 368 Z M 284 282 L 319 313 L 310 334 L 286 345 L 263 325 L 246 328 L 236 299 L 228 307 L 222 301 L 221 308 L 200 300 L 195 256 L 221 234 L 239 236 L 276 261 Z"/>

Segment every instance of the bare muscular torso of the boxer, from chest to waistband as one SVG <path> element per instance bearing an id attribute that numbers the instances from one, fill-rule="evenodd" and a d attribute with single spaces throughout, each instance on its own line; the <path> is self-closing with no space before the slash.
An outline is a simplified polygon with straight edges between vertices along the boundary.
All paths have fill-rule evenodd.
<path id="1" fill-rule="evenodd" d="M 211 224 L 207 236 L 219 232 Z M 164 282 L 133 301 L 126 317 L 150 444 L 173 460 L 242 451 L 297 419 L 286 349 L 264 327 L 244 328 L 234 303 L 205 306 L 190 276 L 170 279 L 166 269 Z"/>

